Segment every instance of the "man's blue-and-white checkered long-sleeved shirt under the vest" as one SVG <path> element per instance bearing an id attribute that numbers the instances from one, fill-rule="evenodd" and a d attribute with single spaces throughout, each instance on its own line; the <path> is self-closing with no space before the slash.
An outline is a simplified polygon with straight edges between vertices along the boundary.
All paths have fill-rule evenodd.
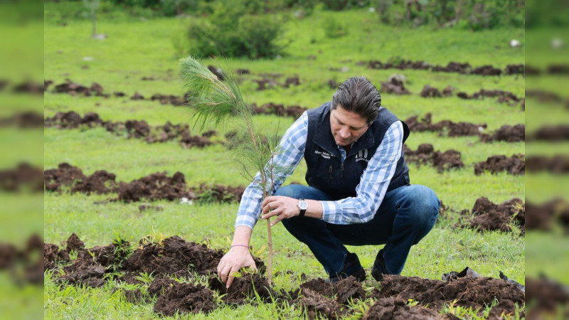
<path id="1" fill-rule="evenodd" d="M 273 186 L 270 183 L 265 188 L 274 194 L 292 174 L 294 169 L 304 156 L 308 135 L 308 114 L 304 112 L 299 119 L 287 130 L 280 141 L 280 151 L 273 161 L 279 169 L 272 172 Z M 346 159 L 346 151 L 338 146 L 342 159 Z M 361 176 L 361 181 L 356 186 L 356 197 L 341 199 L 339 201 L 320 201 L 322 204 L 322 220 L 337 225 L 349 225 L 352 223 L 366 223 L 373 219 L 376 211 L 383 201 L 389 182 L 395 174 L 397 161 L 403 149 L 403 124 L 400 121 L 393 122 L 376 153 L 373 154 L 368 166 Z M 267 169 L 268 170 L 268 169 Z M 260 181 L 257 172 L 255 181 Z M 262 189 L 261 183 L 252 182 L 243 193 L 243 198 L 235 220 L 235 227 L 246 225 L 253 228 L 261 214 Z"/>

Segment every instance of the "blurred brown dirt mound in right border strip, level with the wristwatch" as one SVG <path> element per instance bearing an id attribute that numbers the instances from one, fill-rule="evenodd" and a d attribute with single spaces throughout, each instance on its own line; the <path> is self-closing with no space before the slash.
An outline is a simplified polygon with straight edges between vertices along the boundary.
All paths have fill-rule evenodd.
<path id="1" fill-rule="evenodd" d="M 551 230 L 553 223 L 560 223 L 565 228 L 565 233 L 569 233 L 569 203 L 563 199 L 553 199 L 540 205 L 536 203 L 526 203 L 528 230 Z"/>

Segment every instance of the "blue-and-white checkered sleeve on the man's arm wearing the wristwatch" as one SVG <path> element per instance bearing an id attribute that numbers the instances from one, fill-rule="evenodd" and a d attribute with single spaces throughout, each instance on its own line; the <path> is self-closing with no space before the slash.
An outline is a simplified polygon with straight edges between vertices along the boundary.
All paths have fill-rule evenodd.
<path id="1" fill-rule="evenodd" d="M 403 149 L 403 124 L 393 122 L 356 186 L 356 197 L 321 201 L 322 220 L 336 225 L 366 223 L 376 215 Z"/>

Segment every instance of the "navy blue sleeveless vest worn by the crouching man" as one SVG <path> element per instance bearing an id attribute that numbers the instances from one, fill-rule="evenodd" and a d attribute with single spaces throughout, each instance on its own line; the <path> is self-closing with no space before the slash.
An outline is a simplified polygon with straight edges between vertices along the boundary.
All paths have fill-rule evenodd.
<path id="1" fill-rule="evenodd" d="M 356 186 L 360 183 L 368 161 L 376 153 L 387 129 L 399 119 L 381 107 L 377 119 L 353 144 L 346 154 L 344 164 L 341 164 L 341 154 L 330 129 L 330 105 L 331 102 L 326 102 L 316 109 L 308 110 L 308 137 L 304 160 L 308 167 L 306 175 L 308 185 L 324 191 L 334 200 L 339 200 L 356 196 Z M 409 137 L 409 128 L 405 122 L 402 123 L 403 143 L 405 143 Z M 401 150 L 401 157 L 397 162 L 388 191 L 409 184 L 409 168 L 405 164 L 405 156 Z"/>

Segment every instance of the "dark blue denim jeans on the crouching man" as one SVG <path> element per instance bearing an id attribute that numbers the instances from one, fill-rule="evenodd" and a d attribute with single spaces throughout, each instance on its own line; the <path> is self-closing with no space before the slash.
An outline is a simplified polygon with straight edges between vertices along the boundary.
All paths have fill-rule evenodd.
<path id="1" fill-rule="evenodd" d="M 317 188 L 298 184 L 284 186 L 275 196 L 331 201 Z M 344 245 L 385 245 L 385 273 L 400 274 L 412 245 L 435 225 L 440 201 L 430 188 L 402 186 L 385 193 L 376 215 L 368 223 L 334 225 L 324 220 L 294 217 L 282 220 L 285 228 L 305 243 L 330 275 L 344 267 L 348 250 Z"/>

